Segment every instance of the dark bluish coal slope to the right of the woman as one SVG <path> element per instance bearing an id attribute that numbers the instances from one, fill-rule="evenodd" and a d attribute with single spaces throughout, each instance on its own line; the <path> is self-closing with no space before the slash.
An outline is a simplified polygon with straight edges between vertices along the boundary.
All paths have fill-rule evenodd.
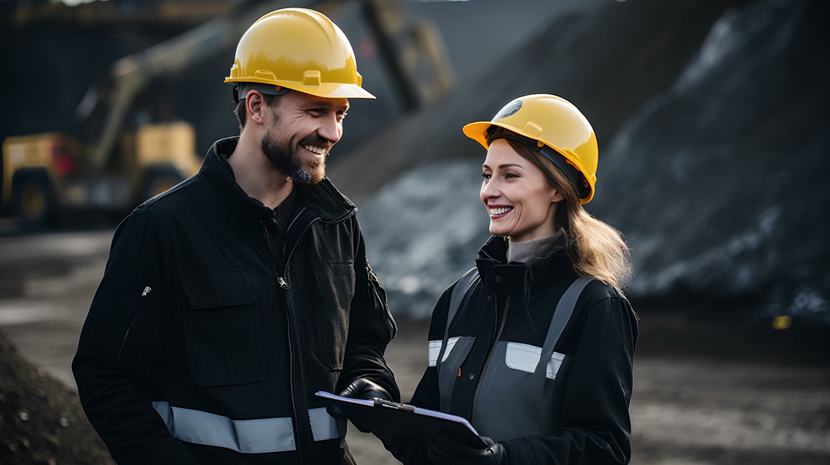
<path id="1" fill-rule="evenodd" d="M 605 150 L 592 207 L 626 232 L 638 295 L 744 300 L 759 317 L 830 325 L 828 12 L 725 12 Z"/>

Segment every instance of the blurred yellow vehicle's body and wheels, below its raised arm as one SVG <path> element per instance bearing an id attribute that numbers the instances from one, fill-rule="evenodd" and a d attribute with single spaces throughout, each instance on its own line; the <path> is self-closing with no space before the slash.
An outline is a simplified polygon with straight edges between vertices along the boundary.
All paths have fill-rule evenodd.
<path id="1" fill-rule="evenodd" d="M 186 122 L 145 125 L 125 133 L 114 165 L 87 163 L 75 136 L 45 133 L 8 137 L 2 145 L 3 203 L 18 228 L 48 228 L 62 210 L 123 211 L 195 174 L 193 127 Z"/>

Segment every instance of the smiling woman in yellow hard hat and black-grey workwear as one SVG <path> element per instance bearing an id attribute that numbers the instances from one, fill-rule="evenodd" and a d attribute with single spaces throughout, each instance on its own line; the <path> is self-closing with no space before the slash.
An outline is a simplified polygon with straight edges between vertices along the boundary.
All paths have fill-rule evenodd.
<path id="1" fill-rule="evenodd" d="M 407 464 L 628 463 L 637 316 L 626 243 L 582 207 L 593 129 L 569 101 L 536 94 L 463 130 L 487 149 L 493 237 L 433 311 L 410 404 L 469 419 L 483 441 L 388 447 Z"/>

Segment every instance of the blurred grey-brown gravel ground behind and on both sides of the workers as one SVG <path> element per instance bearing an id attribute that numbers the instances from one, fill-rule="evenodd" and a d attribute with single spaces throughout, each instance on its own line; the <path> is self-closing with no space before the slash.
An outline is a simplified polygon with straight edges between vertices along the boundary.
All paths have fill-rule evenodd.
<path id="1" fill-rule="evenodd" d="M 0 237 L 0 328 L 70 393 L 71 357 L 111 233 Z M 633 464 L 830 463 L 826 345 L 811 352 L 796 333 L 776 340 L 764 331 L 728 332 L 734 323 L 688 310 L 641 307 L 640 316 Z M 427 323 L 398 323 L 387 359 L 408 400 L 427 358 Z M 362 465 L 396 463 L 355 428 L 349 444 Z"/>

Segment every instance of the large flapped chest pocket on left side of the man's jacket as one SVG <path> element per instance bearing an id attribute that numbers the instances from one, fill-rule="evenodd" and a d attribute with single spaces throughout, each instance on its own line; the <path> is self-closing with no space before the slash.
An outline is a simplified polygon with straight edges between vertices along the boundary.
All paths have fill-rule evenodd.
<path id="1" fill-rule="evenodd" d="M 200 386 L 252 383 L 265 378 L 253 270 L 200 273 L 182 280 L 190 375 Z"/>

